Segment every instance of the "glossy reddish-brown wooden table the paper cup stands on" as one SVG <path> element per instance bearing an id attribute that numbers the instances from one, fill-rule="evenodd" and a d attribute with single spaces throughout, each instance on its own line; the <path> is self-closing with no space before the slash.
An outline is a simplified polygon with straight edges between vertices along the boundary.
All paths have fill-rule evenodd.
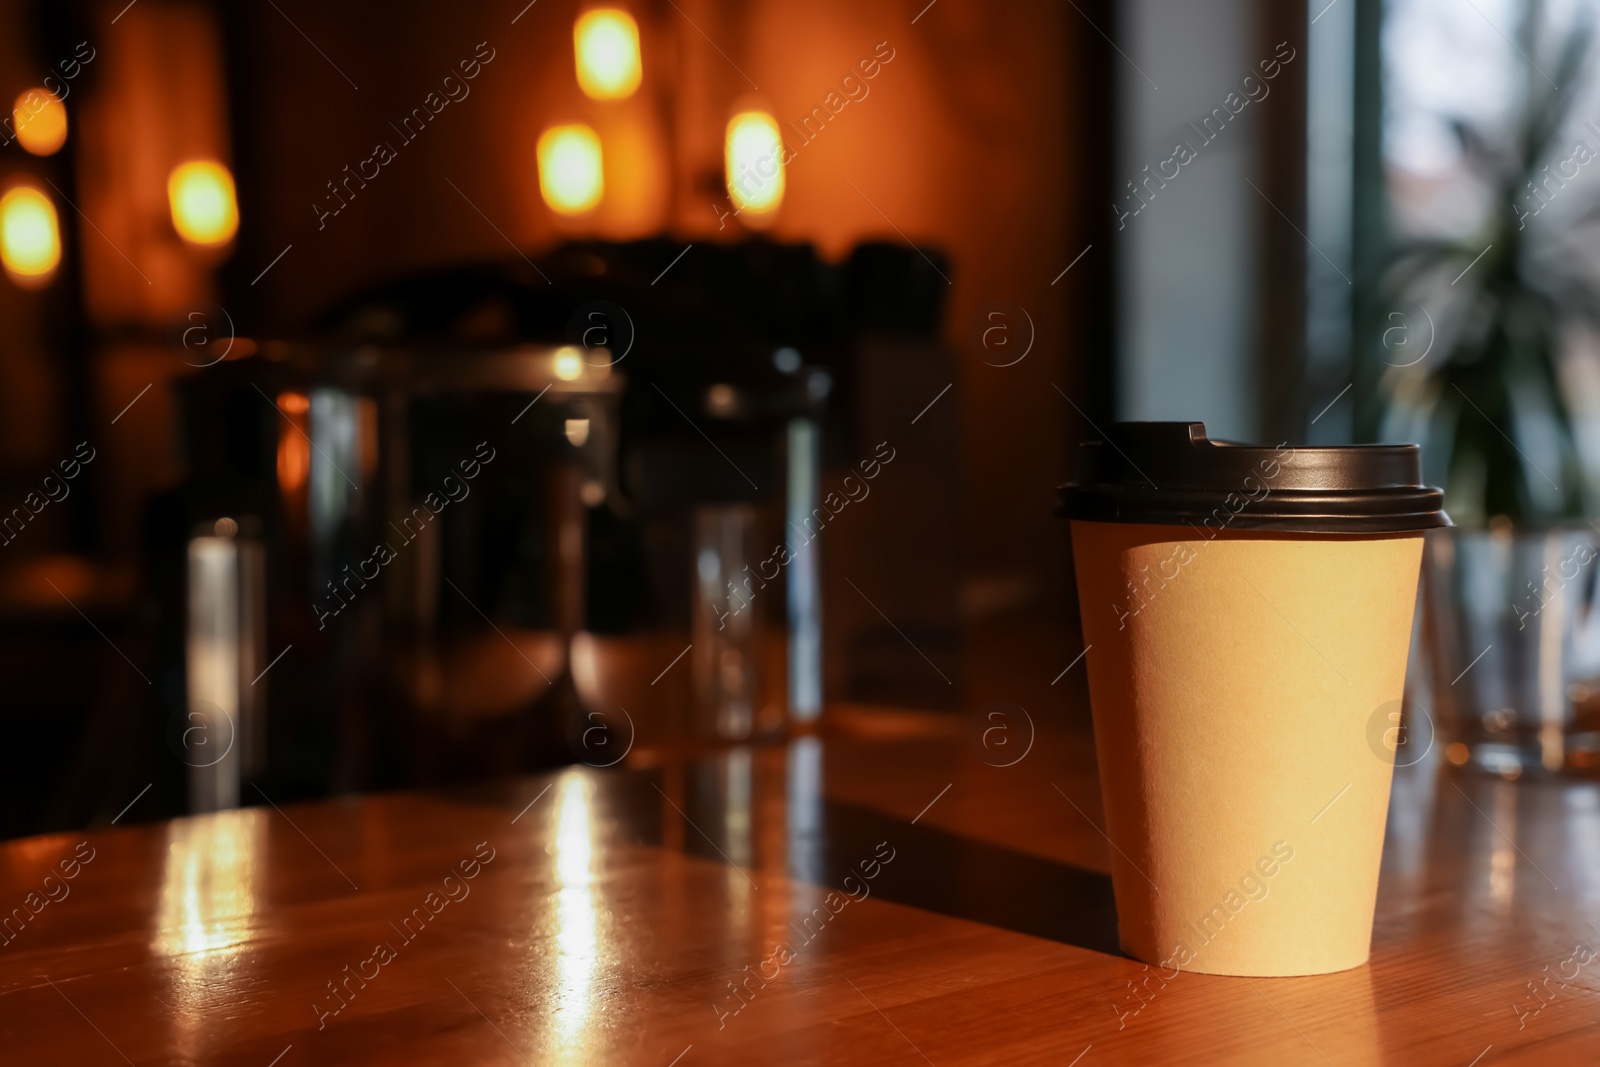
<path id="1" fill-rule="evenodd" d="M 952 717 L 840 712 L 784 745 L 11 841 L 0 1061 L 1600 1062 L 1600 958 L 1571 963 L 1600 947 L 1595 785 L 1405 769 L 1368 966 L 1181 974 L 1141 1006 L 1088 737 L 984 757 Z"/>

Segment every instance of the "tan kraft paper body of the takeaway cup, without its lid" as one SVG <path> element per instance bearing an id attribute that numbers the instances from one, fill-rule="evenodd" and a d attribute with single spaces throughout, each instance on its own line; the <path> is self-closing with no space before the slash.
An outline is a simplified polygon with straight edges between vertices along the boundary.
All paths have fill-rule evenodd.
<path id="1" fill-rule="evenodd" d="M 1074 520 L 1072 547 L 1123 950 L 1365 963 L 1394 769 L 1368 725 L 1402 697 L 1422 534 Z"/>

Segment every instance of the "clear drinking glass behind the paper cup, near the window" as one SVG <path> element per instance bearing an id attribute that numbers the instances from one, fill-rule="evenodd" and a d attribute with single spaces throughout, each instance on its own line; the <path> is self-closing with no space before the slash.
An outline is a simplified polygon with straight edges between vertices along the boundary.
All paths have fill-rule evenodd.
<path id="1" fill-rule="evenodd" d="M 1600 771 L 1600 533 L 1438 530 L 1422 563 L 1445 757 L 1506 776 Z"/>

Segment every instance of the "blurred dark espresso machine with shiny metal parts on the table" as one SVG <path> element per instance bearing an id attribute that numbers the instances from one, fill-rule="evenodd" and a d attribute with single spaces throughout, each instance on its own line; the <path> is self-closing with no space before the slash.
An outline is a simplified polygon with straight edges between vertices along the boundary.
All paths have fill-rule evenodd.
<path id="1" fill-rule="evenodd" d="M 168 600 L 192 809 L 608 766 L 819 715 L 797 534 L 850 437 L 862 262 L 910 267 L 749 242 L 661 280 L 680 251 L 437 270 L 186 379 L 194 474 L 166 522 L 189 531 Z M 931 322 L 928 286 L 907 291 L 888 304 Z"/>

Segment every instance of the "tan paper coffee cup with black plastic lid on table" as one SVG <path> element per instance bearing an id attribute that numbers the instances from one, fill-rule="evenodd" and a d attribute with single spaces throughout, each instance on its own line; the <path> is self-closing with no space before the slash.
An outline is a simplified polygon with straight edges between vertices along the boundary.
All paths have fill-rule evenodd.
<path id="1" fill-rule="evenodd" d="M 1248 448 L 1117 424 L 1072 517 L 1122 947 L 1173 973 L 1358 966 L 1422 530 L 1416 446 Z"/>

